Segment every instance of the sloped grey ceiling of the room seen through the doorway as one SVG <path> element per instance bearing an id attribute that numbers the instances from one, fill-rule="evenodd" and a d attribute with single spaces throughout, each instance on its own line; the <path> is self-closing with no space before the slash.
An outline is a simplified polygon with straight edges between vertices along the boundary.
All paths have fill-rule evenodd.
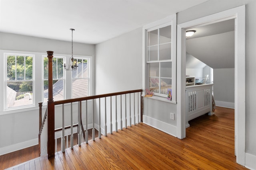
<path id="1" fill-rule="evenodd" d="M 195 58 L 189 58 L 187 67 L 198 68 L 199 60 L 211 68 L 234 68 L 234 28 L 235 20 L 231 19 L 190 29 L 196 32 L 187 38 L 186 52 Z"/>

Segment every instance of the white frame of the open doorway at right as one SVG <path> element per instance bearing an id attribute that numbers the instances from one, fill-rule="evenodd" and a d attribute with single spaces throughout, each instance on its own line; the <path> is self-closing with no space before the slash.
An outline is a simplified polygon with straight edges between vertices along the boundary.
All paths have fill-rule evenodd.
<path id="1" fill-rule="evenodd" d="M 235 155 L 245 165 L 245 5 L 177 25 L 177 137 L 186 137 L 186 29 L 235 19 Z M 239 99 L 239 100 L 238 100 Z M 239 121 L 238 121 L 239 120 Z"/>

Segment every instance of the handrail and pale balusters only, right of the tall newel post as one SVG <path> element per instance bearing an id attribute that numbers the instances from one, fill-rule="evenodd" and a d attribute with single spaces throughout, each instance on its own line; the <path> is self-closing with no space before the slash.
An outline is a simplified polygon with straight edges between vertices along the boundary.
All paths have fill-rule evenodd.
<path id="1" fill-rule="evenodd" d="M 128 94 L 128 95 L 127 95 Z M 142 90 L 130 90 L 130 91 L 124 91 L 124 92 L 116 92 L 116 93 L 110 93 L 110 94 L 102 94 L 102 95 L 96 95 L 96 96 L 88 96 L 88 97 L 82 97 L 82 98 L 74 98 L 74 99 L 68 99 L 68 100 L 59 100 L 54 102 L 54 106 L 62 106 L 62 127 L 55 129 L 54 132 L 62 131 L 61 135 L 61 150 L 62 152 L 65 152 L 65 149 L 68 148 L 68 140 L 70 140 L 70 148 L 73 148 L 73 130 L 71 125 L 65 126 L 64 117 L 65 115 L 71 113 L 71 119 L 70 122 L 72 124 L 72 117 L 73 117 L 73 104 L 77 104 L 77 114 L 78 114 L 78 123 L 75 124 L 78 126 L 78 145 L 80 146 L 82 143 L 82 137 L 84 139 L 85 143 L 88 143 L 88 121 L 91 121 L 91 129 L 92 129 L 92 140 L 95 140 L 95 129 L 98 130 L 98 137 L 101 138 L 101 131 L 104 131 L 104 135 L 107 136 L 107 132 L 109 131 L 110 134 L 112 134 L 113 124 L 115 126 L 115 131 L 118 131 L 119 129 L 122 130 L 123 125 L 125 128 L 127 128 L 127 123 L 129 122 L 129 125 L 136 125 L 136 123 L 139 123 L 142 119 L 142 113 L 140 113 L 140 107 L 142 107 L 142 98 L 141 98 Z M 125 98 L 125 100 L 122 100 Z M 128 99 L 128 100 L 127 100 Z M 115 100 L 115 104 L 112 103 L 112 100 Z M 133 102 L 131 102 L 133 100 Z M 88 101 L 91 103 L 92 112 L 90 112 L 90 116 L 92 117 L 92 120 L 88 119 Z M 104 101 L 104 102 L 102 102 Z M 107 102 L 108 101 L 108 102 Z M 98 102 L 95 106 L 95 102 Z M 137 102 L 137 104 L 136 104 Z M 102 104 L 103 103 L 103 104 Z M 107 104 L 108 103 L 108 104 Z M 69 106 L 70 104 L 70 106 Z M 82 109 L 82 105 L 84 106 L 84 109 Z M 128 105 L 128 107 L 127 107 Z M 115 108 L 112 108 L 114 106 Z M 125 108 L 122 109 L 122 106 L 125 106 Z M 67 111 L 68 107 L 71 108 L 71 111 Z M 98 107 L 98 110 L 95 111 L 96 107 Z M 117 110 L 117 108 L 120 107 L 120 110 Z M 59 107 L 60 108 L 60 107 Z M 132 109 L 133 108 L 133 109 Z M 55 108 L 56 110 L 56 108 Z M 66 113 L 65 113 L 66 112 Z M 103 112 L 103 114 L 102 114 Z M 115 112 L 114 115 L 112 113 Z M 107 114 L 108 113 L 108 114 Z M 84 116 L 84 119 L 82 117 Z M 98 119 L 95 120 L 95 116 L 98 116 Z M 102 115 L 104 115 L 104 128 L 101 126 Z M 124 117 L 124 120 L 123 120 Z M 115 122 L 112 122 L 112 118 L 115 119 Z M 59 118 L 61 119 L 61 118 Z M 110 126 L 107 125 L 107 119 L 110 120 Z M 118 120 L 120 119 L 120 120 Z M 95 122 L 97 121 L 98 127 L 95 127 Z M 125 122 L 123 124 L 123 121 Z M 84 126 L 82 125 L 82 122 L 84 122 Z M 73 127 L 75 126 L 73 125 Z M 107 129 L 108 127 L 108 129 Z M 65 133 L 65 129 L 70 128 L 70 133 Z M 85 133 L 85 135 L 84 135 Z M 66 134 L 66 135 L 65 135 Z M 68 136 L 70 135 L 70 139 L 68 139 Z M 85 136 L 85 137 L 84 137 Z M 66 137 L 66 139 L 65 139 Z M 53 142 L 53 141 L 52 141 Z M 66 143 L 66 146 L 65 146 Z M 49 145 L 49 143 L 48 143 Z M 55 141 L 55 152 L 56 150 L 56 141 Z"/>

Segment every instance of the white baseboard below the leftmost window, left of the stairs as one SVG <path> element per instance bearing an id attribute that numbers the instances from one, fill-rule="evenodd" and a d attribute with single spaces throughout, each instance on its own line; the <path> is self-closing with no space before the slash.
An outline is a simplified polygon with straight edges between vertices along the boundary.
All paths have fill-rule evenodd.
<path id="1" fill-rule="evenodd" d="M 38 145 L 38 138 L 32 139 L 30 141 L 16 143 L 14 145 L 9 145 L 7 147 L 2 147 L 2 148 L 0 148 L 0 155 L 7 154 L 7 153 L 10 153 L 10 152 L 14 152 L 16 150 L 32 147 L 34 145 Z"/>

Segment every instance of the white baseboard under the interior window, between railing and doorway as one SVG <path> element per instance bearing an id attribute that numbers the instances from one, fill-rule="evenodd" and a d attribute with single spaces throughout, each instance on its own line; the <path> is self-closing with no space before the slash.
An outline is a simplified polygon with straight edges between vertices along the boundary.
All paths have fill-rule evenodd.
<path id="1" fill-rule="evenodd" d="M 160 131 L 168 133 L 169 135 L 177 137 L 177 127 L 176 126 L 170 125 L 163 121 L 159 121 L 152 117 L 148 117 L 146 115 L 143 115 L 143 123 L 145 123 L 146 125 L 152 126 Z"/>

